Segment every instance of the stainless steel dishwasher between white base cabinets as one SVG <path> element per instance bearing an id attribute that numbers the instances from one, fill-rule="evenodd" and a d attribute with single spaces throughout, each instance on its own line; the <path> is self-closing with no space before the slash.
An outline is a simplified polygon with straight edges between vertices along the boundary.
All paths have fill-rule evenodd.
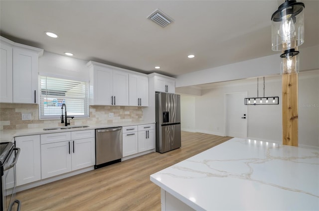
<path id="1" fill-rule="evenodd" d="M 95 169 L 121 162 L 122 155 L 122 127 L 95 130 Z"/>

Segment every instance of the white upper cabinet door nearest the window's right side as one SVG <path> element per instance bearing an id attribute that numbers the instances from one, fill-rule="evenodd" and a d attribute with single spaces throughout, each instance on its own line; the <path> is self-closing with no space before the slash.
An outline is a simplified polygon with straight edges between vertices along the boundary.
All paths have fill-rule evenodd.
<path id="1" fill-rule="evenodd" d="M 94 105 L 111 105 L 113 72 L 102 67 L 94 68 Z"/>

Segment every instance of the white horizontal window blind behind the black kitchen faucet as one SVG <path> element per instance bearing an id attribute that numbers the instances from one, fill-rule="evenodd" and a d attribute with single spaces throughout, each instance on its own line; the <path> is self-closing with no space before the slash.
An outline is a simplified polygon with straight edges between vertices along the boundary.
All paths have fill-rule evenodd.
<path id="1" fill-rule="evenodd" d="M 60 118 L 63 103 L 68 116 L 89 116 L 87 82 L 40 76 L 40 84 L 40 119 Z"/>

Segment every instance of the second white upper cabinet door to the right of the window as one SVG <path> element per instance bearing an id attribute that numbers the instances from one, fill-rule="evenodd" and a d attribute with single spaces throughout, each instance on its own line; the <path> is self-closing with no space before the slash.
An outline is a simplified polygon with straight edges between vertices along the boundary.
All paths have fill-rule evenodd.
<path id="1" fill-rule="evenodd" d="M 129 105 L 129 73 L 113 70 L 113 105 Z"/>

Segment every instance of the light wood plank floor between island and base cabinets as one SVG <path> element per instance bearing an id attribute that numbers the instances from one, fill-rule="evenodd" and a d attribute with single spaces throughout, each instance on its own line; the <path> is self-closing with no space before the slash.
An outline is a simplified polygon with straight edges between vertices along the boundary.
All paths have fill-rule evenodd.
<path id="1" fill-rule="evenodd" d="M 160 211 L 150 175 L 230 137 L 182 132 L 181 148 L 153 152 L 16 194 L 22 211 Z"/>

